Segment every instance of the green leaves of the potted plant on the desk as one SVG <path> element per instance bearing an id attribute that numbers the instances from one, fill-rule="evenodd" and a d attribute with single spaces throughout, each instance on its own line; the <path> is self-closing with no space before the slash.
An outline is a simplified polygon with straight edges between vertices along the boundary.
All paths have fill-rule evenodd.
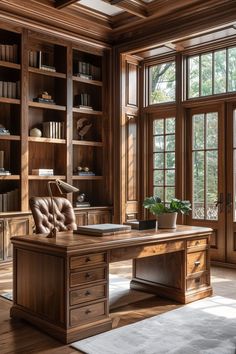
<path id="1" fill-rule="evenodd" d="M 143 206 L 149 209 L 152 214 L 159 215 L 164 213 L 181 213 L 188 214 L 191 209 L 189 200 L 171 199 L 170 203 L 164 204 L 161 198 L 153 196 L 144 200 Z"/>

